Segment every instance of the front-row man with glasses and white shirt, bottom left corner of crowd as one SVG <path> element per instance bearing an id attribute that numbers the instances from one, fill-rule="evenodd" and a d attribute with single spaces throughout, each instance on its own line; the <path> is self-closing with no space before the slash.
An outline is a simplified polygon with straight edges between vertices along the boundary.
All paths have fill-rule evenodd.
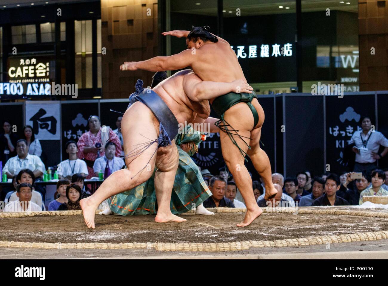
<path id="1" fill-rule="evenodd" d="M 42 211 L 42 207 L 31 202 L 32 186 L 29 183 L 21 183 L 17 185 L 16 194 L 19 198 L 16 201 L 10 202 L 4 208 L 5 212 L 38 212 Z"/>

